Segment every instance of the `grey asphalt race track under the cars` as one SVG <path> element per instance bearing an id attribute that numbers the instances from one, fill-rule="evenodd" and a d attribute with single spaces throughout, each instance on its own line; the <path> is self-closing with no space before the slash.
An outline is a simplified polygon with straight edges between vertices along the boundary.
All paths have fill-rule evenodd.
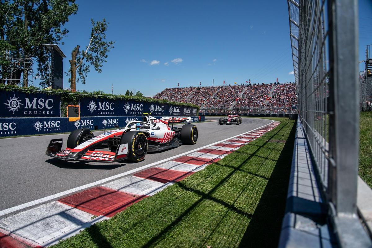
<path id="1" fill-rule="evenodd" d="M 218 120 L 217 117 L 207 118 Z M 65 148 L 68 134 L 0 139 L 0 211 L 164 160 L 272 122 L 242 119 L 242 124 L 230 126 L 218 125 L 218 122 L 196 123 L 199 131 L 196 145 L 147 154 L 145 160 L 139 163 L 68 162 L 45 155 L 51 139 L 63 138 L 62 148 Z M 94 132 L 94 135 L 100 133 L 103 131 Z"/>

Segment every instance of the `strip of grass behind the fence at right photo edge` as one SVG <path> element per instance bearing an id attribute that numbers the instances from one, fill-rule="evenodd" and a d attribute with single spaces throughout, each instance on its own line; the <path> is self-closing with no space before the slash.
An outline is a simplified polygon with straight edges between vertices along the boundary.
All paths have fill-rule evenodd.
<path id="1" fill-rule="evenodd" d="M 372 188 L 372 112 L 360 112 L 359 175 Z"/>

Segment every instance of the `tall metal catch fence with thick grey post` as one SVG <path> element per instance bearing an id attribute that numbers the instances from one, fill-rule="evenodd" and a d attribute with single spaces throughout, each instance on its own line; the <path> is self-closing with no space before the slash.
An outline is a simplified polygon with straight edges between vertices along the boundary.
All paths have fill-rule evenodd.
<path id="1" fill-rule="evenodd" d="M 356 0 L 288 0 L 299 119 L 341 247 L 361 244 Z M 366 87 L 367 90 L 367 87 Z M 353 228 L 351 228 L 353 226 Z M 353 245 L 351 245 L 353 246 Z"/>

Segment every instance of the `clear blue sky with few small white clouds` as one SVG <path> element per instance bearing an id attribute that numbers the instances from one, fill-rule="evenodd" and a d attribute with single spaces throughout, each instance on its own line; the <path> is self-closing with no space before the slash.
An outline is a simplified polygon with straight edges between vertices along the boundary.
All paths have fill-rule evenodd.
<path id="1" fill-rule="evenodd" d="M 294 81 L 288 6 L 277 1 L 83 1 L 70 17 L 60 48 L 67 56 L 89 43 L 90 19 L 108 21 L 115 40 L 102 73 L 91 67 L 77 90 L 153 96 L 166 87 Z M 372 44 L 372 1 L 359 0 L 360 60 Z M 363 38 L 362 38 L 363 37 Z M 365 37 L 365 38 L 364 38 Z M 173 62 L 172 62 L 173 61 Z M 64 76 L 64 87 L 68 87 Z M 35 84 L 38 84 L 35 82 Z"/>

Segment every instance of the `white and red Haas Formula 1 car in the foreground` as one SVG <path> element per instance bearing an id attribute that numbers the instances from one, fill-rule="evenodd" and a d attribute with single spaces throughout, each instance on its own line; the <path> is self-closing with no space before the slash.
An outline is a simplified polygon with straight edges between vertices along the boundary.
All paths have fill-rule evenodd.
<path id="1" fill-rule="evenodd" d="M 198 129 L 190 124 L 190 117 L 156 119 L 149 113 L 144 115 L 143 121 L 131 121 L 125 128 L 98 136 L 94 136 L 89 128 L 76 129 L 68 136 L 66 149 L 61 149 L 62 139 L 52 139 L 45 154 L 70 161 L 118 162 L 128 159 L 140 162 L 147 152 L 158 152 L 182 144 L 196 144 Z M 182 122 L 186 124 L 180 128 L 173 125 Z"/>

